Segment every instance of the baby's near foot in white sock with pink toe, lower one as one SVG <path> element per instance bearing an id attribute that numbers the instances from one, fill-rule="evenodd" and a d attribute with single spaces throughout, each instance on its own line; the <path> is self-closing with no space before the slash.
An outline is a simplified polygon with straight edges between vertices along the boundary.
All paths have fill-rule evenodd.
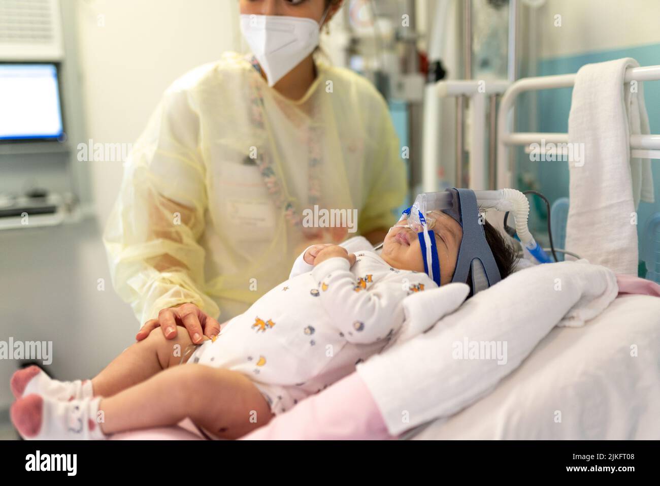
<path id="1" fill-rule="evenodd" d="M 100 397 L 59 401 L 31 394 L 11 405 L 11 421 L 26 440 L 102 440 Z"/>

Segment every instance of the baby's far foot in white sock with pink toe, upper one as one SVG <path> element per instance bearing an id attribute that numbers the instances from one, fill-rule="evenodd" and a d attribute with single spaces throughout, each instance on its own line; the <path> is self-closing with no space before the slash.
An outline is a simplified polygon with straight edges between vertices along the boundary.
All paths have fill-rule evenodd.
<path id="1" fill-rule="evenodd" d="M 94 395 L 90 380 L 60 382 L 50 378 L 39 366 L 28 366 L 11 377 L 11 391 L 16 398 L 36 393 L 56 400 L 75 400 Z"/>

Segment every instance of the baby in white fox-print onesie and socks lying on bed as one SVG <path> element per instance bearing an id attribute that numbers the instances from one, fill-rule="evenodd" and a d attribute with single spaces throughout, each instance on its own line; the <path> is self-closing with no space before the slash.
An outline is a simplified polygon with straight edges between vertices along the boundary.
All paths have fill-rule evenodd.
<path id="1" fill-rule="evenodd" d="M 434 235 L 444 284 L 461 226 L 438 212 Z M 496 235 L 486 228 L 492 246 L 503 242 Z M 238 438 L 265 425 L 381 351 L 403 324 L 403 298 L 437 287 L 411 228 L 391 228 L 380 256 L 364 238 L 348 243 L 354 253 L 308 248 L 287 281 L 201 345 L 183 328 L 172 340 L 154 330 L 91 381 L 59 382 L 36 366 L 16 372 L 16 429 L 26 439 L 103 439 L 189 418 L 209 438 Z M 507 264 L 498 260 L 501 273 Z"/>

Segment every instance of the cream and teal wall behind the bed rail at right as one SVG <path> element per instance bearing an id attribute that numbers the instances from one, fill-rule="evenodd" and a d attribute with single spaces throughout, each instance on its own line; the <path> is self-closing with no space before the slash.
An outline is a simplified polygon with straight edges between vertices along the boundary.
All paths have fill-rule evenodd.
<path id="1" fill-rule="evenodd" d="M 597 14 L 595 13 L 597 12 Z M 562 26 L 554 26 L 555 15 L 561 15 Z M 548 0 L 537 13 L 539 27 L 530 35 L 537 36 L 538 52 L 530 56 L 533 64 L 523 59 L 520 77 L 576 73 L 587 63 L 597 63 L 632 57 L 640 65 L 660 63 L 660 2 L 635 0 L 630 3 L 616 0 Z M 660 133 L 660 81 L 644 83 L 645 102 L 651 133 Z M 544 90 L 538 94 L 521 96 L 518 129 L 521 131 L 568 131 L 572 89 Z M 531 111 L 531 106 L 536 106 Z M 519 153 L 517 184 L 531 188 L 529 180 L 548 196 L 550 203 L 568 197 L 568 166 L 566 162 L 530 162 L 529 156 Z M 660 164 L 653 162 L 655 203 L 640 203 L 638 233 L 640 244 L 647 218 L 660 211 Z M 539 206 L 540 207 L 540 206 Z M 545 230 L 545 221 L 536 211 L 531 225 Z"/>

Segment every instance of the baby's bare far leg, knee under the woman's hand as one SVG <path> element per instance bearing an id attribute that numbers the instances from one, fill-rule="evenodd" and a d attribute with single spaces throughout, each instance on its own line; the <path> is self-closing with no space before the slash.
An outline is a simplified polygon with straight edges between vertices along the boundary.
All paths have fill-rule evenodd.
<path id="1" fill-rule="evenodd" d="M 178 365 L 192 342 L 185 328 L 178 327 L 174 339 L 165 339 L 160 328 L 154 329 L 147 339 L 125 349 L 92 379 L 94 396 L 113 396 L 169 366 Z"/>

